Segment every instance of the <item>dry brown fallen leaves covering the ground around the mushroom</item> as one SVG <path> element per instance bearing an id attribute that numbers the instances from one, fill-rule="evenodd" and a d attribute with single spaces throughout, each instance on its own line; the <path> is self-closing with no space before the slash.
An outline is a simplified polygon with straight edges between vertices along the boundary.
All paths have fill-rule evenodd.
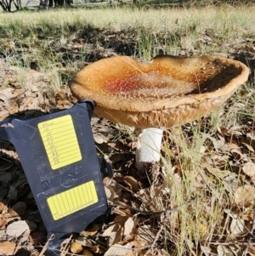
<path id="1" fill-rule="evenodd" d="M 1 62 L 3 66 L 1 77 L 5 77 L 5 80 L 0 94 L 1 120 L 10 115 L 37 117 L 49 111 L 69 108 L 76 102 L 67 88 L 50 92 L 50 79 L 45 74 L 29 71 L 27 77 L 31 83 L 24 86 L 15 78 L 16 73 L 8 63 Z M 36 81 L 33 77 L 37 77 Z M 230 102 L 230 107 L 238 106 Z M 205 122 L 206 119 L 202 124 Z M 63 244 L 65 251 L 80 255 L 168 255 L 174 251 L 174 242 L 167 243 L 167 252 L 163 237 L 167 232 L 172 232 L 172 237 L 178 236 L 174 229 L 178 227 L 178 211 L 182 211 L 182 204 L 172 205 L 168 200 L 174 196 L 171 185 L 173 182 L 179 184 L 182 190 L 184 176 L 188 175 L 183 173 L 178 132 L 180 136 L 184 133 L 187 141 L 191 141 L 190 125 L 184 127 L 184 132 L 173 129 L 166 133 L 166 138 L 167 135 L 168 138 L 171 136 L 168 142 L 173 149 L 173 178 L 166 180 L 164 178 L 169 170 L 164 167 L 148 166 L 146 175 L 136 172 L 133 168 L 133 139 L 124 127 L 98 117 L 93 117 L 91 124 L 99 154 L 105 155 L 115 171 L 114 179 L 104 180 L 112 215 L 107 224 L 94 225 L 76 239 L 66 241 Z M 252 125 L 245 123 L 231 128 L 221 127 L 215 134 L 202 134 L 207 141 L 207 147 L 201 146 L 200 149 L 206 163 L 205 169 L 200 174 L 190 172 L 194 193 L 186 198 L 183 208 L 194 212 L 192 196 L 197 191 L 217 193 L 213 186 L 216 179 L 221 180 L 225 190 L 229 191 L 233 206 L 224 211 L 228 216 L 225 225 L 218 226 L 223 236 L 212 236 L 201 241 L 202 253 L 212 253 L 213 247 L 217 247 L 218 252 L 233 253 L 235 244 L 254 255 L 255 247 L 248 239 L 248 232 L 246 236 L 242 235 L 244 230 L 252 230 L 254 225 L 255 135 Z M 14 255 L 23 250 L 30 255 L 39 255 L 46 242 L 41 217 L 13 145 L 5 141 L 0 143 L 0 253 Z M 162 146 L 162 152 L 167 155 L 166 145 Z M 225 168 L 226 164 L 229 168 Z M 209 207 L 212 200 L 210 195 L 195 198 L 201 200 L 205 207 L 205 202 L 208 200 Z M 204 214 L 207 216 L 206 212 Z M 209 229 L 206 224 L 199 226 L 204 234 Z M 225 235 L 231 239 L 224 240 Z"/>

